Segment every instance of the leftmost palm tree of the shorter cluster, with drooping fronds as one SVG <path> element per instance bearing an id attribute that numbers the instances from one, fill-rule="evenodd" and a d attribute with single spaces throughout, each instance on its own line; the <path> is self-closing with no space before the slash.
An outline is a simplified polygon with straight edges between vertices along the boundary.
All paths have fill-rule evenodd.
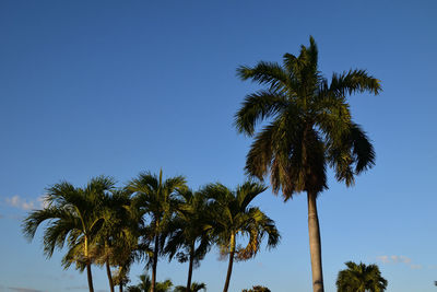
<path id="1" fill-rule="evenodd" d="M 68 241 L 69 252 L 66 257 L 71 260 L 63 264 L 69 267 L 74 261 L 81 270 L 86 267 L 90 292 L 94 291 L 91 243 L 104 221 L 101 210 L 105 194 L 114 187 L 114 179 L 105 176 L 92 178 L 84 188 L 61 182 L 47 188 L 45 200 L 48 206 L 32 211 L 23 221 L 23 233 L 29 240 L 33 240 L 38 226 L 47 222 L 44 253 L 48 258 L 55 248 L 62 249 Z"/>

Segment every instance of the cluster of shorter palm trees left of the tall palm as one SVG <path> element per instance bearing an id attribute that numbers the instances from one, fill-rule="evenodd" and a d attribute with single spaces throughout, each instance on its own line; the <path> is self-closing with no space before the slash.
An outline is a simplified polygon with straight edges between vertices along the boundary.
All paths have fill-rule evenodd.
<path id="1" fill-rule="evenodd" d="M 141 173 L 122 188 L 116 188 L 115 180 L 106 176 L 92 178 L 82 188 L 62 182 L 47 189 L 47 207 L 32 211 L 23 222 L 23 231 L 33 238 L 38 226 L 47 223 L 45 254 L 50 257 L 55 248 L 67 244 L 62 265 L 68 268 L 74 264 L 81 271 L 86 268 L 91 292 L 92 265 L 106 267 L 114 292 L 115 285 L 122 291 L 135 260 L 145 260 L 152 270 L 150 291 L 162 290 L 156 285 L 162 256 L 188 261 L 184 291 L 198 290 L 191 281 L 192 270 L 215 244 L 223 256 L 228 256 L 223 290 L 227 291 L 234 258 L 252 258 L 264 236 L 269 247 L 279 243 L 274 222 L 250 206 L 265 189 L 262 184 L 246 182 L 235 190 L 216 183 L 193 191 L 185 177 L 163 179 L 162 171 L 158 175 Z M 238 248 L 240 235 L 249 240 L 246 247 Z"/>

